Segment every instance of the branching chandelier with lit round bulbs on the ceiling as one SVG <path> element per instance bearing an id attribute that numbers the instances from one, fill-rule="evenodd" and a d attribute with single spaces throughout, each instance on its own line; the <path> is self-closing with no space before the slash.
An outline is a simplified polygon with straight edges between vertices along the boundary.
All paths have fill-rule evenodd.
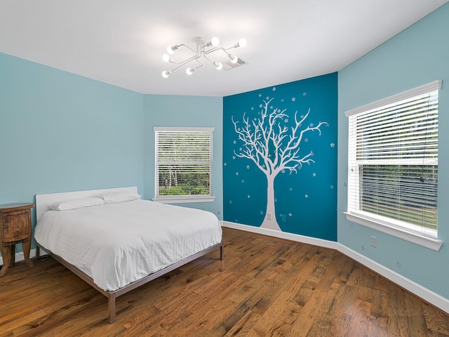
<path id="1" fill-rule="evenodd" d="M 164 62 L 172 63 L 173 65 L 175 65 L 175 67 L 173 67 L 173 69 L 171 70 L 164 70 L 162 72 L 163 78 L 166 79 L 172 72 L 179 69 L 183 65 L 187 65 L 187 63 L 189 62 L 194 63 L 191 67 L 187 67 L 185 72 L 187 73 L 187 75 L 192 75 L 199 67 L 203 67 L 203 63 L 200 61 L 201 58 L 204 58 L 209 62 L 211 62 L 217 70 L 222 70 L 223 68 L 222 62 L 217 62 L 217 60 L 213 58 L 210 54 L 214 53 L 215 51 L 222 51 L 227 55 L 227 57 L 231 60 L 231 62 L 235 64 L 236 62 L 239 61 L 239 58 L 236 55 L 229 53 L 229 50 L 233 48 L 246 46 L 246 39 L 239 39 L 239 42 L 237 42 L 236 44 L 234 44 L 234 46 L 231 46 L 229 48 L 223 48 L 222 46 L 219 46 L 220 41 L 218 40 L 217 37 L 213 37 L 212 39 L 210 39 L 210 41 L 206 41 L 202 37 L 197 37 L 195 41 L 196 41 L 196 50 L 190 48 L 185 44 L 168 46 L 167 53 L 162 55 L 162 60 Z M 170 55 L 175 54 L 175 51 L 180 48 L 187 48 L 190 51 L 192 51 L 194 55 L 179 62 L 172 60 Z"/>

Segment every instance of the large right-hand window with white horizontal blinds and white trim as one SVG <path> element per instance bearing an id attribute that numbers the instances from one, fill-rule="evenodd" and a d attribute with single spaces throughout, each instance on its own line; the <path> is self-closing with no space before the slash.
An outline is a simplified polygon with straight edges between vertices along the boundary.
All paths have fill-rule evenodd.
<path id="1" fill-rule="evenodd" d="M 441 81 L 435 81 L 346 112 L 349 220 L 412 242 L 429 238 L 419 243 L 424 246 L 441 246 L 439 88 Z"/>

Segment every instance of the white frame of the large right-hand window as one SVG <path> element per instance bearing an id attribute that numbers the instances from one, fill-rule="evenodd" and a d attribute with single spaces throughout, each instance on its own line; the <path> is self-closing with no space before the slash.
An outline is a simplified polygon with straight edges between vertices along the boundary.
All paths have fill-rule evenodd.
<path id="1" fill-rule="evenodd" d="M 361 107 L 357 107 L 353 110 L 348 110 L 345 112 L 346 117 L 351 117 L 357 114 L 362 114 L 363 112 L 368 112 L 370 110 L 375 110 L 380 107 L 385 107 L 386 105 L 391 105 L 394 103 L 398 103 L 401 100 L 406 100 L 409 98 L 414 98 L 417 95 L 429 93 L 431 91 L 439 91 L 441 89 L 441 80 L 433 81 L 429 84 L 424 84 L 423 86 L 419 86 L 417 88 L 410 89 L 408 91 L 404 91 L 403 93 L 398 93 L 396 95 L 389 96 L 388 98 L 384 98 L 382 100 L 377 100 L 373 103 L 369 103 L 368 105 L 363 105 Z M 354 145 L 351 143 L 351 131 L 348 129 L 348 179 L 351 173 L 350 160 L 351 160 L 351 151 L 354 152 L 356 149 Z M 355 180 L 356 181 L 356 180 Z M 354 185 L 351 185 L 354 184 Z M 351 191 L 350 189 L 353 189 Z M 364 225 L 366 227 L 370 227 L 374 230 L 384 232 L 386 234 L 390 234 L 394 237 L 398 237 L 400 239 L 404 239 L 408 242 L 413 242 L 415 244 L 419 244 L 420 246 L 427 247 L 434 251 L 439 251 L 443 241 L 438 239 L 437 232 L 435 235 L 429 235 L 426 232 L 419 232 L 417 230 L 413 230 L 413 226 L 399 226 L 394 221 L 389 221 L 388 219 L 382 219 L 381 216 L 376 216 L 374 213 L 368 213 L 365 211 L 360 211 L 358 209 L 351 209 L 350 198 L 354 197 L 358 194 L 360 187 L 358 187 L 358 182 L 354 183 L 348 180 L 348 190 L 347 190 L 347 211 L 344 211 L 344 215 L 347 220 L 353 223 L 358 223 L 360 225 Z"/>

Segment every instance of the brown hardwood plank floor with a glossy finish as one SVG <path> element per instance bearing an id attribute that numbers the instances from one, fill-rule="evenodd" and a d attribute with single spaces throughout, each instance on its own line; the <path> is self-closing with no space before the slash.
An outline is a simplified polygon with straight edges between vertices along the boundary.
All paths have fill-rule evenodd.
<path id="1" fill-rule="evenodd" d="M 223 228 L 214 251 L 117 300 L 55 260 L 0 278 L 0 336 L 449 336 L 449 315 L 332 249 Z"/>

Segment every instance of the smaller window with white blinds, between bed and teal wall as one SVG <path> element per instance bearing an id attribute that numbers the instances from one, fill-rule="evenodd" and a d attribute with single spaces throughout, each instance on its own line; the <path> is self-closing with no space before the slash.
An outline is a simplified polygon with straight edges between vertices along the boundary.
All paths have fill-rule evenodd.
<path id="1" fill-rule="evenodd" d="M 154 128 L 157 201 L 204 202 L 212 196 L 213 128 Z"/>

